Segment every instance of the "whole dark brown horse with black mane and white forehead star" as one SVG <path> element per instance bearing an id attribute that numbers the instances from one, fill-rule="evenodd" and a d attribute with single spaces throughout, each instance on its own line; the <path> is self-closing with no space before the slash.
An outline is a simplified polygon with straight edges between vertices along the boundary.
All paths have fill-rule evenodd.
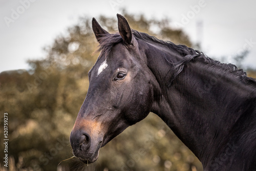
<path id="1" fill-rule="evenodd" d="M 153 112 L 204 170 L 256 170 L 256 80 L 117 18 L 115 34 L 92 19 L 100 54 L 70 134 L 74 156 L 95 162 L 101 147 Z"/>

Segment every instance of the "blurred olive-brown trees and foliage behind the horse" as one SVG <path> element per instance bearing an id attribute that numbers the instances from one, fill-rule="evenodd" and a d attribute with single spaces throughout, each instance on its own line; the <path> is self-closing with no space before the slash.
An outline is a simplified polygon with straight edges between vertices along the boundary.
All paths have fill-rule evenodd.
<path id="1" fill-rule="evenodd" d="M 131 28 L 201 50 L 169 19 L 147 19 L 123 11 Z M 104 29 L 117 31 L 116 17 L 95 16 Z M 98 57 L 98 43 L 91 19 L 80 17 L 45 47 L 46 56 L 28 60 L 29 70 L 0 74 L 0 109 L 8 112 L 9 170 L 57 170 L 60 161 L 72 157 L 69 135 L 87 94 L 88 72 Z M 248 54 L 233 56 L 239 67 Z M 212 57 L 212 56 L 210 56 Z M 223 57 L 224 58 L 224 57 Z M 256 77 L 254 69 L 247 69 Z M 1 114 L 1 127 L 3 115 Z M 3 135 L 3 129 L 0 135 Z M 2 140 L 1 140 L 2 142 Z M 4 149 L 1 143 L 1 149 Z M 4 151 L 0 151 L 1 168 Z M 58 170 L 202 170 L 200 161 L 155 114 L 129 127 L 101 148 L 99 159 L 87 166 L 76 159 L 60 163 Z"/>

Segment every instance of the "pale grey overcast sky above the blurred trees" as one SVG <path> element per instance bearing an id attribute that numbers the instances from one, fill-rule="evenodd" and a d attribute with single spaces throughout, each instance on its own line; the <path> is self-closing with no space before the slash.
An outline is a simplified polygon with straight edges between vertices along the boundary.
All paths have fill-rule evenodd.
<path id="1" fill-rule="evenodd" d="M 200 39 L 209 57 L 227 56 L 232 62 L 230 56 L 248 49 L 244 65 L 256 68 L 255 6 L 252 0 L 1 0 L 0 72 L 28 69 L 27 59 L 45 57 L 42 48 L 79 16 L 113 17 L 123 8 L 147 18 L 172 19 L 171 26 L 182 28 L 193 42 Z"/>

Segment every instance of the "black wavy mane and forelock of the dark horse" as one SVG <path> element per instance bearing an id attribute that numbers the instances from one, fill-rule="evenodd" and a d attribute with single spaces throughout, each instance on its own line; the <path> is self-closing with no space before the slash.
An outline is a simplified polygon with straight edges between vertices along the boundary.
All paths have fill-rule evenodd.
<path id="1" fill-rule="evenodd" d="M 245 84 L 248 84 L 254 88 L 256 88 L 256 80 L 250 77 L 247 77 L 247 74 L 243 69 L 238 69 L 236 65 L 231 63 L 221 63 L 220 61 L 209 58 L 203 52 L 199 50 L 195 50 L 193 48 L 189 48 L 185 45 L 175 45 L 171 41 L 164 41 L 156 38 L 155 36 L 148 35 L 146 33 L 138 32 L 136 30 L 132 30 L 133 36 L 138 40 L 143 40 L 149 43 L 160 44 L 162 46 L 167 47 L 168 49 L 177 51 L 184 58 L 178 63 L 173 63 L 172 59 L 168 59 L 168 56 L 165 56 L 165 60 L 174 68 L 174 76 L 172 80 L 170 80 L 170 84 L 175 80 L 175 78 L 183 71 L 186 63 L 190 61 L 201 61 L 208 65 L 208 67 L 212 67 L 217 70 L 222 70 L 224 73 L 230 73 L 243 81 Z M 120 34 L 106 34 L 100 40 L 100 45 L 98 51 L 101 51 L 100 56 L 104 56 L 105 58 L 108 56 L 110 51 L 112 50 L 115 44 L 122 42 L 123 39 Z M 125 44 L 124 44 L 125 45 Z M 127 45 L 125 45 L 127 46 Z M 130 48 L 127 46 L 127 48 Z"/>

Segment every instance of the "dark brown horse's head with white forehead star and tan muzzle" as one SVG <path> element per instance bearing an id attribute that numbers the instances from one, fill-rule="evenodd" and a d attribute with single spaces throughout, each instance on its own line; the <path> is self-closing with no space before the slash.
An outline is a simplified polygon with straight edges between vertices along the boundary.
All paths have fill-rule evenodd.
<path id="1" fill-rule="evenodd" d="M 153 105 L 152 73 L 126 19 L 117 15 L 119 34 L 93 18 L 101 53 L 89 72 L 89 89 L 70 135 L 74 156 L 95 162 L 100 147 L 144 119 Z"/>

